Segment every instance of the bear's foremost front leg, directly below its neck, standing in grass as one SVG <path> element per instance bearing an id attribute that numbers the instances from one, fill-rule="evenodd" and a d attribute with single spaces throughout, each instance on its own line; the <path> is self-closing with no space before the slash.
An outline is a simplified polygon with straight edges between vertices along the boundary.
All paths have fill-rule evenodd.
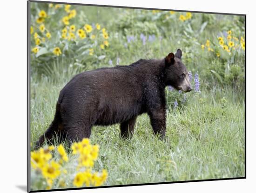
<path id="1" fill-rule="evenodd" d="M 154 133 L 159 134 L 162 140 L 165 137 L 166 130 L 165 108 L 154 109 L 148 114 Z"/>

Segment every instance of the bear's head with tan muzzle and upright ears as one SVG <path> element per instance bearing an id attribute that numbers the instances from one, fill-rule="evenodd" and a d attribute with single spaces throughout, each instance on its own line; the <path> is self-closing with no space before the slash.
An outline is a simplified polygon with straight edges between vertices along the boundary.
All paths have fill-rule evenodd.
<path id="1" fill-rule="evenodd" d="M 189 81 L 189 72 L 182 63 L 182 51 L 180 49 L 175 54 L 169 53 L 165 57 L 165 77 L 166 85 L 168 86 L 184 92 L 192 90 Z"/>

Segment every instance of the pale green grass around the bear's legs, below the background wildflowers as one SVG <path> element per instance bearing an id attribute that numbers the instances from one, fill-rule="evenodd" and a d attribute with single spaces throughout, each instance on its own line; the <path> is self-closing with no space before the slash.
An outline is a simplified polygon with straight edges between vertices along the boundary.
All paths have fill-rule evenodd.
<path id="1" fill-rule="evenodd" d="M 65 76 L 66 81 L 61 77 Z M 46 76 L 31 81 L 32 143 L 44 133 L 55 113 L 61 88 L 72 72 L 60 81 Z M 222 108 L 220 100 L 227 104 Z M 105 185 L 203 180 L 244 176 L 244 102 L 242 93 L 216 89 L 191 93 L 182 109 L 167 113 L 166 140 L 153 134 L 147 114 L 139 116 L 133 138 L 120 139 L 119 125 L 94 126 L 91 142 L 100 145 L 95 170 L 108 170 Z M 71 154 L 65 167 L 75 173 Z M 69 173 L 67 185 L 72 186 Z"/>

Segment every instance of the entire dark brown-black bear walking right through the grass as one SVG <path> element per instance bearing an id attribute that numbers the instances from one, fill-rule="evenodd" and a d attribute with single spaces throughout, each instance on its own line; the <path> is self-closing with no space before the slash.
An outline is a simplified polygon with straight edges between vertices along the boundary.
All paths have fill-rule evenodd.
<path id="1" fill-rule="evenodd" d="M 128 66 L 100 68 L 80 73 L 61 90 L 54 120 L 36 142 L 39 147 L 54 135 L 68 141 L 89 138 L 92 126 L 121 123 L 121 136 L 134 132 L 138 115 L 148 113 L 155 134 L 166 129 L 165 87 L 189 92 L 189 75 L 182 51 L 162 60 L 138 60 Z"/>

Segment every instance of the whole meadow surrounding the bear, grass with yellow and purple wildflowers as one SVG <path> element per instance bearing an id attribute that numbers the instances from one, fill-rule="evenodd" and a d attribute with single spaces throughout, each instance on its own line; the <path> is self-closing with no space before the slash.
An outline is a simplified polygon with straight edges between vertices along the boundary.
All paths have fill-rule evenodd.
<path id="1" fill-rule="evenodd" d="M 66 143 L 31 152 L 32 190 L 243 177 L 243 16 L 31 3 L 32 151 L 75 74 L 177 48 L 194 91 L 166 88 L 166 140 L 147 114 L 131 140 L 121 140 L 119 125 L 94 126 L 90 163 Z"/>

